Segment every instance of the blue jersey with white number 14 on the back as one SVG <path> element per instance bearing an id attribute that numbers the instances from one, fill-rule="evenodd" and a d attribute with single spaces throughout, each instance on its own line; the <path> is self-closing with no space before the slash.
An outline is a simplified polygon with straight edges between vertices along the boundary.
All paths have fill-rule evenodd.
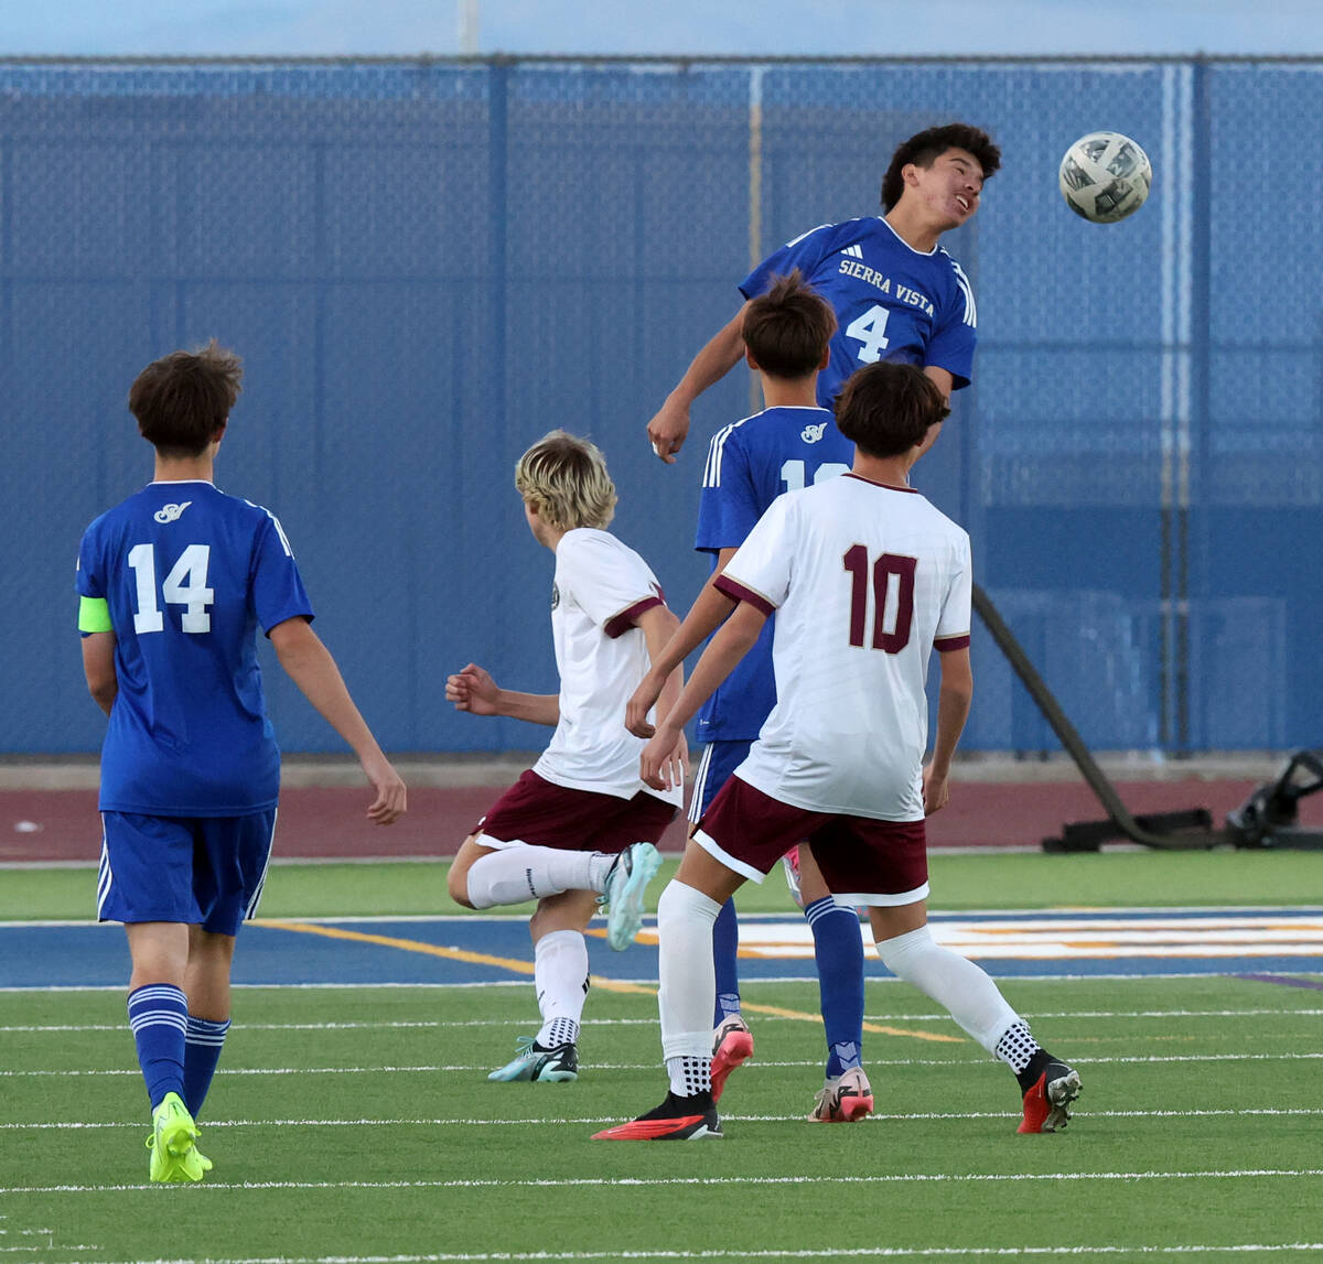
<path id="1" fill-rule="evenodd" d="M 102 810 L 273 808 L 280 752 L 255 629 L 312 617 L 275 517 L 210 483 L 151 483 L 83 533 L 78 592 L 105 599 L 115 633 Z"/>

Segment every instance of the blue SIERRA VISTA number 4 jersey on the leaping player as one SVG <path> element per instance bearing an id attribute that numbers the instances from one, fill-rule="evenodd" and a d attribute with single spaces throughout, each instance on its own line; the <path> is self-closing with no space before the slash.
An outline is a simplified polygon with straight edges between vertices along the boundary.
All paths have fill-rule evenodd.
<path id="1" fill-rule="evenodd" d="M 800 275 L 836 313 L 831 362 L 818 374 L 818 402 L 830 409 L 856 369 L 896 360 L 946 369 L 968 386 L 978 311 L 960 266 L 941 247 L 908 246 L 882 218 L 824 223 L 758 264 L 740 292 L 755 299 L 773 276 Z"/>

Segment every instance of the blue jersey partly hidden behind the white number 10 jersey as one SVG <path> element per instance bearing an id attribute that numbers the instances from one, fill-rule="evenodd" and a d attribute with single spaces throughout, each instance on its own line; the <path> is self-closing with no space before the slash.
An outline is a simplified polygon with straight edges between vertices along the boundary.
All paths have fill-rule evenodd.
<path id="1" fill-rule="evenodd" d="M 695 547 L 737 549 L 782 493 L 845 473 L 851 443 L 826 409 L 766 409 L 718 430 L 708 448 Z M 699 711 L 700 742 L 751 742 L 777 703 L 769 619 L 753 649 Z"/>

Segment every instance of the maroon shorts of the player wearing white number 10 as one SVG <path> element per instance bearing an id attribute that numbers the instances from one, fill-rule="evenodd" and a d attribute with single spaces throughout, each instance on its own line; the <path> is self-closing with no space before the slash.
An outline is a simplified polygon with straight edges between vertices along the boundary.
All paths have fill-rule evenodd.
<path id="1" fill-rule="evenodd" d="M 828 890 L 851 904 L 912 904 L 927 896 L 922 821 L 792 808 L 733 776 L 693 837 L 728 869 L 754 882 L 762 882 L 796 842 L 807 841 Z"/>

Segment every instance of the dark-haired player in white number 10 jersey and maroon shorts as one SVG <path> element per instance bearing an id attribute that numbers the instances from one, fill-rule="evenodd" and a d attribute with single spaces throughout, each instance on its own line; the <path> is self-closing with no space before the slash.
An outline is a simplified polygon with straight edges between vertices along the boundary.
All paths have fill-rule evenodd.
<path id="1" fill-rule="evenodd" d="M 721 1136 L 706 1025 L 712 924 L 722 900 L 800 840 L 833 894 L 869 907 L 882 964 L 1011 1067 L 1023 1093 L 1019 1130 L 1053 1132 L 1070 1117 L 1078 1074 L 1039 1047 L 978 965 L 927 929 L 923 818 L 947 801 L 974 688 L 970 539 L 908 480 L 945 416 L 941 390 L 910 365 L 855 374 L 836 406 L 840 432 L 855 443 L 851 473 L 779 497 L 716 583 L 738 604 L 658 723 L 640 772 L 665 781 L 684 723 L 773 612 L 777 706 L 658 904 L 669 1092 L 656 1109 L 598 1133 L 602 1140 Z M 684 637 L 681 625 L 675 640 Z M 942 682 L 925 770 L 934 648 Z"/>

